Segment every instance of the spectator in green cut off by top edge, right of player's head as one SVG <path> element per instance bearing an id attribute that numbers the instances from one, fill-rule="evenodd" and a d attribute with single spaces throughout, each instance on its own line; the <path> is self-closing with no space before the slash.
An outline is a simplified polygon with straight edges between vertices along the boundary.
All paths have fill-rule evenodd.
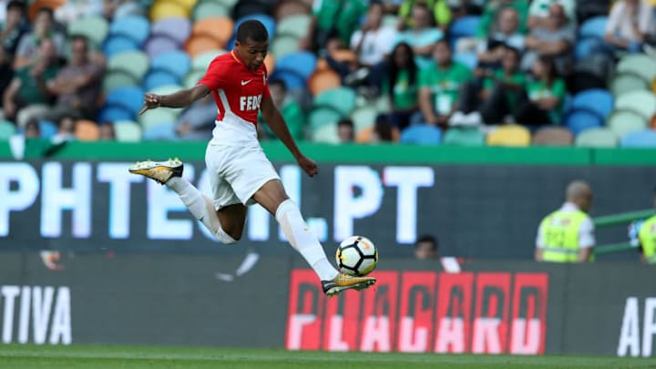
<path id="1" fill-rule="evenodd" d="M 313 8 L 313 18 L 307 35 L 301 40 L 301 47 L 319 52 L 329 48 L 331 39 L 349 45 L 367 5 L 364 0 L 317 0 Z"/>

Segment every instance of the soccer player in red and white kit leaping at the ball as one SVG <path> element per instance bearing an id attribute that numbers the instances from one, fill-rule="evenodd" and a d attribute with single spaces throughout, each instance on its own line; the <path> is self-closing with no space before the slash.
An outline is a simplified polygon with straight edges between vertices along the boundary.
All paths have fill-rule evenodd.
<path id="1" fill-rule="evenodd" d="M 285 193 L 278 173 L 258 142 L 256 125 L 261 109 L 262 117 L 292 152 L 298 165 L 311 177 L 317 174 L 316 163 L 298 149 L 286 122 L 273 105 L 264 66 L 268 39 L 266 28 L 259 21 L 243 22 L 237 29 L 234 48 L 212 60 L 198 85 L 169 95 L 147 93 L 139 112 L 183 108 L 209 93 L 213 95 L 219 116 L 205 152 L 211 199 L 181 177 L 183 165 L 178 159 L 141 161 L 129 171 L 174 190 L 191 214 L 225 244 L 241 239 L 246 207 L 259 203 L 275 216 L 292 247 L 317 273 L 323 292 L 333 295 L 347 289 L 362 290 L 374 284 L 375 279 L 352 277 L 335 270 L 321 243 L 302 219 L 298 206 Z"/>

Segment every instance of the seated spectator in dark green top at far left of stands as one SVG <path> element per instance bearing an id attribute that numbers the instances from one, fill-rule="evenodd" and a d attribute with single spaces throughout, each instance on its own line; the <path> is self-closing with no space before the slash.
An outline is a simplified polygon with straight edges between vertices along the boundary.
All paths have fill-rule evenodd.
<path id="1" fill-rule="evenodd" d="M 34 65 L 16 70 L 3 96 L 5 118 L 15 119 L 19 127 L 24 127 L 32 117 L 46 114 L 50 104 L 46 84 L 59 69 L 52 39 L 42 40 L 37 54 Z"/>

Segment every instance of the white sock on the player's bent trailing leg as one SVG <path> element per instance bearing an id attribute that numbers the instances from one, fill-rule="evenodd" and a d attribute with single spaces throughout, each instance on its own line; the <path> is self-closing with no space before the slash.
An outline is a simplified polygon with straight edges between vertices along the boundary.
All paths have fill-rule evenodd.
<path id="1" fill-rule="evenodd" d="M 225 244 L 236 242 L 228 233 L 220 227 L 219 217 L 214 210 L 214 203 L 210 198 L 203 195 L 200 190 L 195 188 L 187 179 L 173 177 L 166 182 L 169 189 L 174 190 L 182 203 L 190 210 L 194 218 L 214 234 L 219 241 Z"/>

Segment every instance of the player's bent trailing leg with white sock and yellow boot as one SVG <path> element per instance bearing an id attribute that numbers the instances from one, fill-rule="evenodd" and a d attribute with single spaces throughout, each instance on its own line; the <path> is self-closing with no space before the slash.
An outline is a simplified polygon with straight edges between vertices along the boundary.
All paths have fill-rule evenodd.
<path id="1" fill-rule="evenodd" d="M 175 191 L 191 214 L 202 222 L 216 238 L 225 244 L 241 239 L 246 219 L 246 207 L 242 204 L 227 206 L 220 211 L 214 203 L 187 179 L 182 178 L 184 166 L 179 159 L 167 161 L 139 161 L 129 168 L 130 173 L 140 174 Z"/>

